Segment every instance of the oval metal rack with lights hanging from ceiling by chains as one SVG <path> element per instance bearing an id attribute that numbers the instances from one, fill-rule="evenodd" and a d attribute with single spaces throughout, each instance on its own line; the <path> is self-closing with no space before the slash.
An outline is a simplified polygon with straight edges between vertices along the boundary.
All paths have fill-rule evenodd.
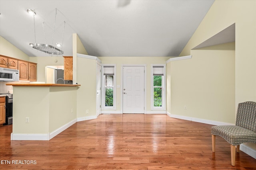
<path id="1" fill-rule="evenodd" d="M 66 21 L 64 21 L 64 28 L 63 28 L 63 34 L 62 34 L 62 44 L 56 43 L 56 46 L 58 46 L 58 47 L 61 46 L 61 49 L 58 49 L 57 47 L 54 47 L 54 45 L 53 45 L 55 25 L 56 25 L 56 16 L 57 16 L 57 8 L 55 10 L 55 19 L 54 19 L 54 26 L 53 26 L 53 33 L 52 33 L 52 45 L 49 45 L 49 44 L 46 43 L 45 30 L 44 30 L 45 44 L 38 44 L 38 43 L 36 43 L 36 23 L 35 23 L 36 12 L 34 10 L 27 10 L 27 11 L 28 11 L 28 13 L 32 12 L 32 15 L 34 17 L 34 37 L 35 37 L 35 43 L 34 44 L 30 43 L 30 45 L 34 49 L 37 49 L 37 50 L 42 51 L 44 53 L 47 53 L 49 55 L 62 55 L 63 54 L 62 46 L 63 46 L 63 40 L 64 40 L 64 31 L 65 31 Z M 43 29 L 44 29 L 44 22 L 43 22 Z"/>

